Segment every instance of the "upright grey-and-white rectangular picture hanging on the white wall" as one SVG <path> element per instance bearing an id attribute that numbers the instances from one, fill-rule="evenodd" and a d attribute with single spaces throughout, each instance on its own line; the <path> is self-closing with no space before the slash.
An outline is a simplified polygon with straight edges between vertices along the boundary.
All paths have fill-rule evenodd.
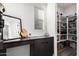
<path id="1" fill-rule="evenodd" d="M 35 7 L 34 8 L 35 16 L 35 29 L 43 30 L 44 29 L 44 9 Z"/>

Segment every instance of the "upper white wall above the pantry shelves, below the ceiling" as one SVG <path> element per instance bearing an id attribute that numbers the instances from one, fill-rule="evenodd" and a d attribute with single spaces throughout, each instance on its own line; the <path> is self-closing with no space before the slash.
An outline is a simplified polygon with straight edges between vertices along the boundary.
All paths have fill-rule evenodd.
<path id="1" fill-rule="evenodd" d="M 60 13 L 63 13 L 63 16 L 72 16 L 75 14 L 76 12 L 76 4 L 72 4 L 70 6 L 67 6 L 66 8 L 64 8 L 64 5 L 63 7 L 61 6 L 57 6 L 57 11 L 60 12 Z"/>

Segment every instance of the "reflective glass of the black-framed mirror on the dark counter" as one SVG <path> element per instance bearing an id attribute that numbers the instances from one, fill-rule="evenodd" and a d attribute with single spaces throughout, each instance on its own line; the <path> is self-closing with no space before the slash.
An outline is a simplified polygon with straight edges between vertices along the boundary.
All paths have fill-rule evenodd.
<path id="1" fill-rule="evenodd" d="M 20 20 L 13 18 L 13 16 L 3 16 L 4 28 L 3 28 L 3 39 L 19 38 L 21 32 Z"/>

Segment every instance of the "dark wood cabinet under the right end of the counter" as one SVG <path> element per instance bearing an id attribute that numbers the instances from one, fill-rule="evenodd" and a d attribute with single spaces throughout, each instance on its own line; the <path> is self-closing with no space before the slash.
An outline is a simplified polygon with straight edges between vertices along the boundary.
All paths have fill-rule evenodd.
<path id="1" fill-rule="evenodd" d="M 51 56 L 54 53 L 53 38 L 40 38 L 30 45 L 31 56 Z"/>

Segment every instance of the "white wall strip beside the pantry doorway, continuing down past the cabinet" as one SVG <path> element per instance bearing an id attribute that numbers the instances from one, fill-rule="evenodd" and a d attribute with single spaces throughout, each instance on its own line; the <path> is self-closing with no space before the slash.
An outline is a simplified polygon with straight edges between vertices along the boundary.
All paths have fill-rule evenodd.
<path id="1" fill-rule="evenodd" d="M 47 6 L 47 31 L 50 36 L 54 36 L 54 55 L 57 55 L 57 40 L 56 40 L 56 4 L 49 3 Z"/>

